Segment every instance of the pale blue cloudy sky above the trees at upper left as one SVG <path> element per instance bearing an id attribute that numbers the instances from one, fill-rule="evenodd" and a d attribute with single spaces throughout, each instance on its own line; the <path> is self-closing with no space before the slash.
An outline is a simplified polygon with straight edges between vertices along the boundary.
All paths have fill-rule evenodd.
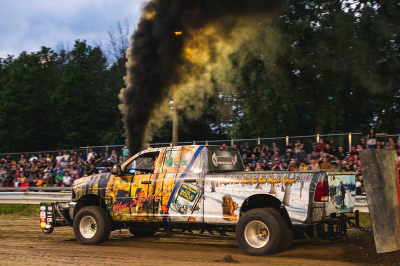
<path id="1" fill-rule="evenodd" d="M 105 43 L 127 19 L 133 31 L 144 0 L 0 0 L 0 57 L 41 45 L 71 48 L 75 39 Z"/>

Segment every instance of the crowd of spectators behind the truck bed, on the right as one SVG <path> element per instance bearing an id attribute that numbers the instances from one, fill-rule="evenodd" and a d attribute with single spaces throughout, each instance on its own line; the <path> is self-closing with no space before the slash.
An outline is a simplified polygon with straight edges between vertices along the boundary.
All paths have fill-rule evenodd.
<path id="1" fill-rule="evenodd" d="M 255 147 L 246 143 L 239 150 L 246 171 L 314 169 L 354 171 L 357 190 L 361 191 L 363 183 L 359 150 L 365 148 L 395 149 L 400 159 L 400 136 L 397 142 L 392 137 L 388 137 L 386 142 L 376 139 L 371 141 L 371 138 L 377 135 L 371 130 L 366 138 L 360 138 L 358 144 L 351 146 L 349 152 L 345 152 L 343 146 L 337 145 L 333 138 L 327 141 L 320 138 L 318 143 L 312 143 L 311 150 L 305 150 L 304 144 L 300 140 L 289 142 L 284 147 L 279 147 L 275 141 L 272 141 L 271 145 L 262 144 Z M 237 145 L 234 147 L 238 148 Z"/>

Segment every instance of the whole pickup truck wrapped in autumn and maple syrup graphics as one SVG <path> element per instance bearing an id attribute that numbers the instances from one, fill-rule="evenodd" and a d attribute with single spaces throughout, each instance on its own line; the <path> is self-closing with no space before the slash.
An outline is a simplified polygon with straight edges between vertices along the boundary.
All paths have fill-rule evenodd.
<path id="1" fill-rule="evenodd" d="M 70 225 L 82 244 L 102 243 L 120 228 L 137 237 L 215 229 L 262 255 L 287 248 L 301 228 L 352 212 L 354 198 L 353 172 L 248 172 L 232 147 L 157 147 L 110 173 L 76 179 L 70 202 L 40 203 L 40 226 L 50 233 Z"/>

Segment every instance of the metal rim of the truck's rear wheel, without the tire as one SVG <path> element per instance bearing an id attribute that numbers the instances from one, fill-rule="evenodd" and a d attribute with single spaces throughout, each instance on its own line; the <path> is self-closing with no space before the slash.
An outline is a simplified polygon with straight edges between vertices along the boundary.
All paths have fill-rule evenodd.
<path id="1" fill-rule="evenodd" d="M 244 228 L 244 238 L 254 248 L 263 247 L 269 240 L 268 227 L 262 221 L 250 221 Z"/>

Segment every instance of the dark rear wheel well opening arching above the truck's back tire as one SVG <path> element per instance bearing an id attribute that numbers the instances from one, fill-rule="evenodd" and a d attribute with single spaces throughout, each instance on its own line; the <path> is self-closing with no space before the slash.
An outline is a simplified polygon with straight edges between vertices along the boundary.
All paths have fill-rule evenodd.
<path id="1" fill-rule="evenodd" d="M 285 220 L 288 228 L 292 228 L 292 224 L 289 218 L 289 215 L 286 211 L 286 208 L 282 206 L 282 202 L 276 197 L 268 194 L 255 194 L 244 199 L 243 203 L 240 206 L 240 215 L 243 215 L 244 212 L 254 208 L 276 208 L 282 215 Z"/>

